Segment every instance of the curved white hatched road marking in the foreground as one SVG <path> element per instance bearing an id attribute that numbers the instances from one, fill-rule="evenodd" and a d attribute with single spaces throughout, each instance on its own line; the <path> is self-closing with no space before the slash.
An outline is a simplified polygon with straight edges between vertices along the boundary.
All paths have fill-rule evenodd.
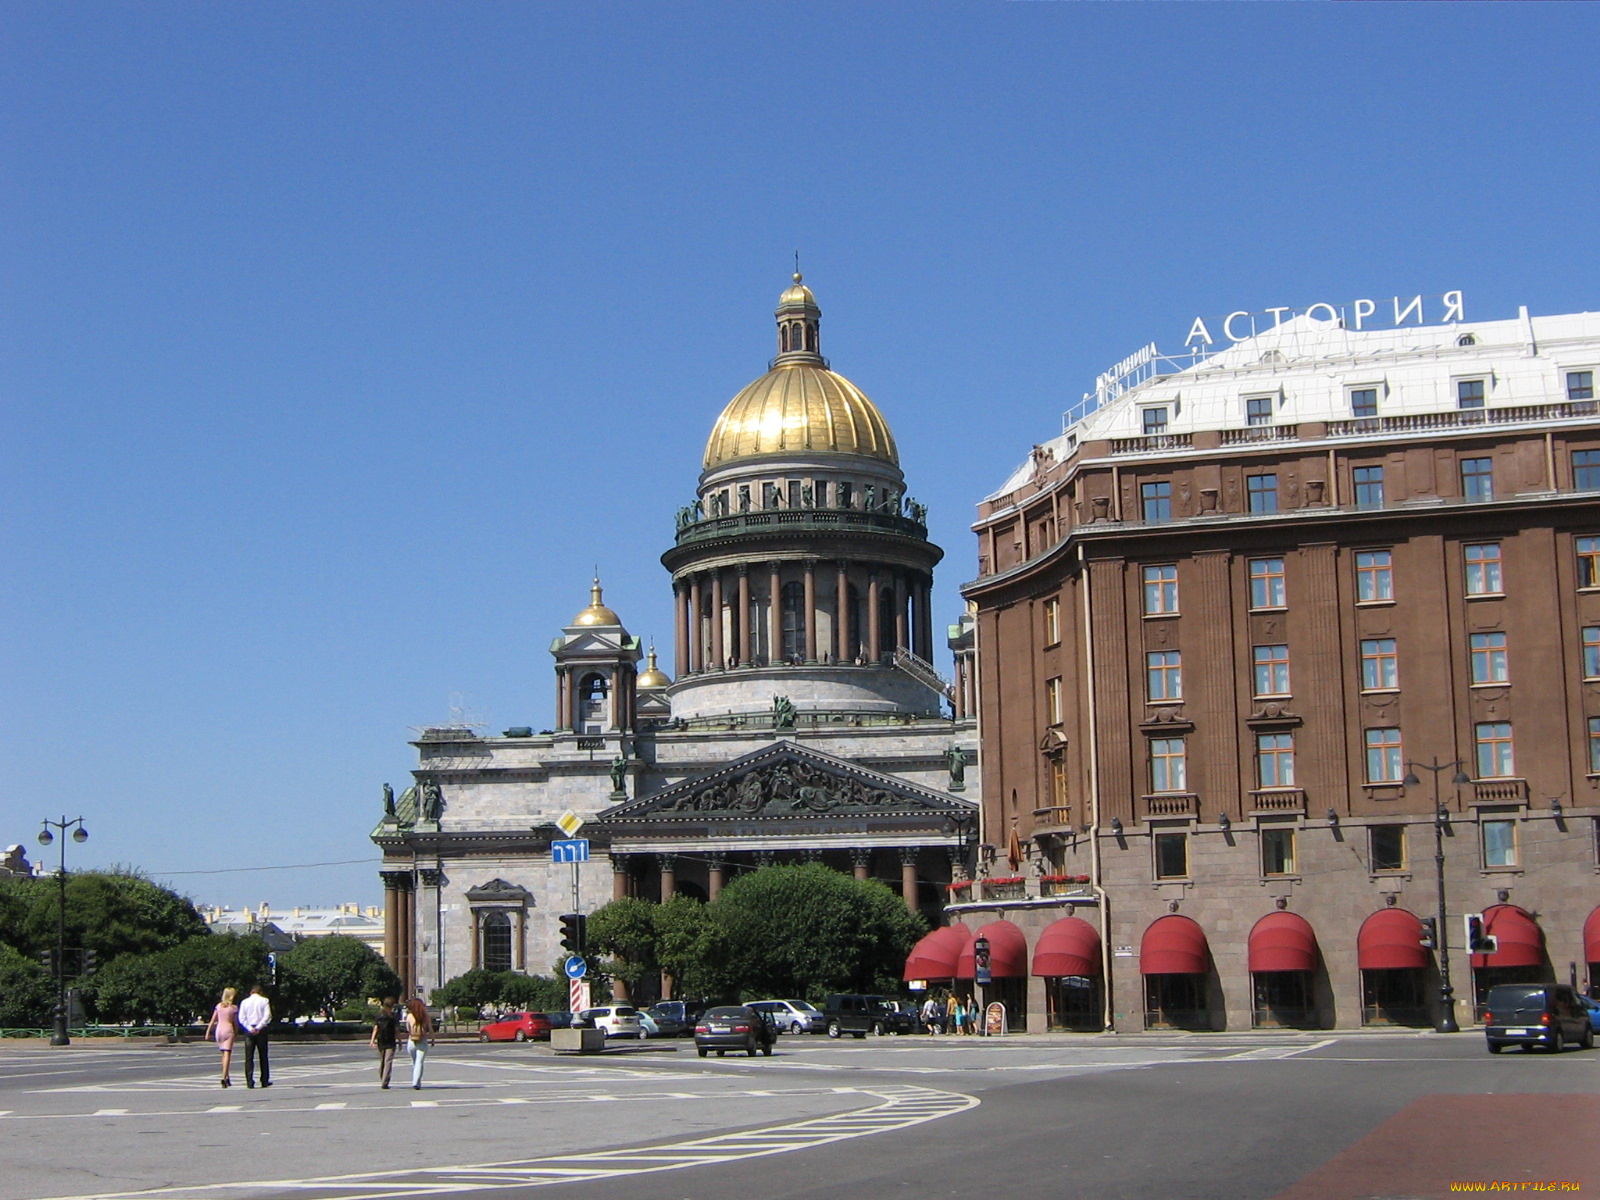
<path id="1" fill-rule="evenodd" d="M 232 1184 L 163 1187 L 158 1190 L 106 1192 L 56 1200 L 238 1200 L 272 1192 L 338 1197 L 339 1200 L 392 1200 L 440 1192 L 477 1192 L 506 1187 L 539 1187 L 555 1182 L 597 1181 L 616 1176 L 677 1171 L 685 1166 L 763 1158 L 816 1146 L 910 1128 L 978 1107 L 976 1096 L 934 1091 L 910 1085 L 862 1088 L 878 1104 L 848 1114 L 776 1125 L 770 1130 L 696 1138 L 674 1146 L 602 1150 L 589 1155 L 550 1155 L 510 1163 L 475 1163 L 410 1171 L 374 1171 L 320 1179 L 253 1179 Z"/>

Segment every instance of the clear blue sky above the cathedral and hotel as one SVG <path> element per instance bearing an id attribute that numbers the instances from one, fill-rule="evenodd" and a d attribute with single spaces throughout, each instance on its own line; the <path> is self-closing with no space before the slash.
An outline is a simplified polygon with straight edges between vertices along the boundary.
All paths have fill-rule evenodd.
<path id="1" fill-rule="evenodd" d="M 203 902 L 376 901 L 410 726 L 549 726 L 592 565 L 670 669 L 658 557 L 797 248 L 941 618 L 974 502 L 1195 315 L 1600 301 L 1589 5 L 0 26 L 0 845 L 82 813 L 69 866 Z"/>

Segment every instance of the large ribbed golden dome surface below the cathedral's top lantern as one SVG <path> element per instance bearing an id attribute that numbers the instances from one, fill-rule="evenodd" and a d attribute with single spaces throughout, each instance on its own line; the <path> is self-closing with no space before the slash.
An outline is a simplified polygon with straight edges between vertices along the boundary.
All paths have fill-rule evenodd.
<path id="1" fill-rule="evenodd" d="M 757 454 L 864 454 L 899 466 L 888 421 L 845 376 L 818 363 L 779 363 L 722 410 L 704 467 Z"/>

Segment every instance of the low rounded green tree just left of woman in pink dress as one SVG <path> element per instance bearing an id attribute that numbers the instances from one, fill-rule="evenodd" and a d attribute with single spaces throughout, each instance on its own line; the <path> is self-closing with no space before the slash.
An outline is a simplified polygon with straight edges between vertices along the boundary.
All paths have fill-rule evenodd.
<path id="1" fill-rule="evenodd" d="M 267 981 L 267 946 L 259 938 L 190 938 L 155 954 L 125 954 L 101 970 L 85 998 L 102 1021 L 184 1026 L 206 1019 L 232 987 L 243 997 Z"/>

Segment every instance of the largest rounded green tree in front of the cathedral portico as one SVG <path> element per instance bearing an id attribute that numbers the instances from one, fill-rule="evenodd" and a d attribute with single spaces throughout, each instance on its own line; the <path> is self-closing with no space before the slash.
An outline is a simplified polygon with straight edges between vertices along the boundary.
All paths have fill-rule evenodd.
<path id="1" fill-rule="evenodd" d="M 746 995 L 819 1000 L 827 992 L 893 992 L 926 923 L 877 880 L 821 864 L 763 867 L 707 906 L 726 978 Z"/>

